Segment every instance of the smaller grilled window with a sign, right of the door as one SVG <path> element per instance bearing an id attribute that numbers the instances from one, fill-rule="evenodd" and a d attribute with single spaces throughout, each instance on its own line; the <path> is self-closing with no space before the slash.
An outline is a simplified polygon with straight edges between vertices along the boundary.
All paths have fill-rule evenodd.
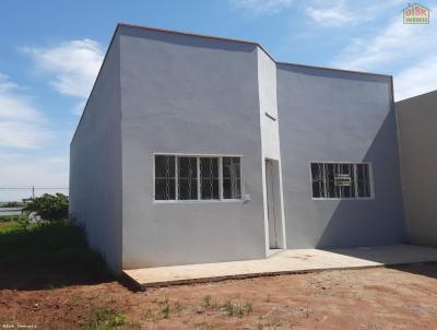
<path id="1" fill-rule="evenodd" d="M 311 163 L 312 198 L 371 198 L 369 163 Z"/>

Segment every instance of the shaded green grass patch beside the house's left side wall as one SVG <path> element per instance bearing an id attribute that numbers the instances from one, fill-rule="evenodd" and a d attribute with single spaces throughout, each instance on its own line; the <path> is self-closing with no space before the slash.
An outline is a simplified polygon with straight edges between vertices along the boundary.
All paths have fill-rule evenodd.
<path id="1" fill-rule="evenodd" d="M 0 269 L 76 266 L 109 278 L 104 258 L 88 248 L 84 229 L 69 222 L 14 224 L 0 228 Z"/>

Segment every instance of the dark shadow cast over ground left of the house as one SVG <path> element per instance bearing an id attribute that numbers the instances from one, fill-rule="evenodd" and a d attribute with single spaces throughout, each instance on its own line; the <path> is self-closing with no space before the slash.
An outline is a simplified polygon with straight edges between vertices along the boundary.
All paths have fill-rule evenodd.
<path id="1" fill-rule="evenodd" d="M 113 281 L 84 231 L 68 223 L 0 228 L 0 290 L 44 290 Z"/>

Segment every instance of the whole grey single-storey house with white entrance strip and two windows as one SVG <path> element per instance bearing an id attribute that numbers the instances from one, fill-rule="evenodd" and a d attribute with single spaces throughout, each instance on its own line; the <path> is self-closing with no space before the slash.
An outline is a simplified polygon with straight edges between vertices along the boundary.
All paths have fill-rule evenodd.
<path id="1" fill-rule="evenodd" d="M 405 239 L 392 79 L 119 24 L 70 150 L 114 270 Z"/>

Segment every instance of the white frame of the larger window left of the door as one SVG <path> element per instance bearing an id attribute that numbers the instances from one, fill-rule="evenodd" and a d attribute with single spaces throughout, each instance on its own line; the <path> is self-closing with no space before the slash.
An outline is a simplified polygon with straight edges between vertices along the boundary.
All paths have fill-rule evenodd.
<path id="1" fill-rule="evenodd" d="M 175 156 L 175 199 L 169 200 L 157 200 L 155 199 L 155 156 Z M 179 200 L 178 189 L 177 189 L 177 157 L 196 157 L 197 158 L 197 173 L 198 173 L 198 199 L 191 200 Z M 218 158 L 218 199 L 201 199 L 201 185 L 200 185 L 200 158 Z M 240 185 L 241 193 L 240 198 L 237 199 L 224 199 L 223 198 L 223 157 L 238 157 L 239 158 L 239 173 L 240 173 Z M 186 153 L 169 153 L 169 152 L 156 152 L 152 153 L 152 170 L 153 170 L 153 203 L 223 203 L 223 202 L 243 202 L 245 196 L 245 176 L 244 176 L 244 155 L 233 155 L 233 154 L 186 154 Z"/>

